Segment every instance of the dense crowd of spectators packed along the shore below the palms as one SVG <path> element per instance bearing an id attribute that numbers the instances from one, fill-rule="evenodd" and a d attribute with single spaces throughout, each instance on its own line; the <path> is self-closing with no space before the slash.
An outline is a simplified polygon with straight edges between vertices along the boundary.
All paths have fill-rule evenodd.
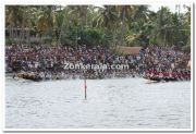
<path id="1" fill-rule="evenodd" d="M 118 54 L 111 48 L 95 46 L 5 46 L 5 71 L 28 73 L 42 80 L 107 78 L 127 76 L 162 76 L 191 78 L 187 63 L 189 53 L 175 47 L 151 45 L 138 54 Z M 128 69 L 73 70 L 65 64 L 128 64 Z M 175 75 L 174 75 L 175 74 Z"/>

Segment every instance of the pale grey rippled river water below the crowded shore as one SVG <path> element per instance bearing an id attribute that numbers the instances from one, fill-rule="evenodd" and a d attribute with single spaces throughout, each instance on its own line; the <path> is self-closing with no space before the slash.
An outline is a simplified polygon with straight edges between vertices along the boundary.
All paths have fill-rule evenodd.
<path id="1" fill-rule="evenodd" d="M 191 82 L 5 81 L 5 129 L 189 129 Z"/>

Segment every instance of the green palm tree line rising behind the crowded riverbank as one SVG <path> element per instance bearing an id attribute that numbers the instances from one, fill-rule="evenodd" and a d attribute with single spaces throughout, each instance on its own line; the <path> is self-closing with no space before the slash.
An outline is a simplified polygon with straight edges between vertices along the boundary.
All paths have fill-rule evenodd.
<path id="1" fill-rule="evenodd" d="M 5 5 L 7 44 L 191 47 L 191 7 Z M 176 5 L 177 8 L 177 5 Z"/>

